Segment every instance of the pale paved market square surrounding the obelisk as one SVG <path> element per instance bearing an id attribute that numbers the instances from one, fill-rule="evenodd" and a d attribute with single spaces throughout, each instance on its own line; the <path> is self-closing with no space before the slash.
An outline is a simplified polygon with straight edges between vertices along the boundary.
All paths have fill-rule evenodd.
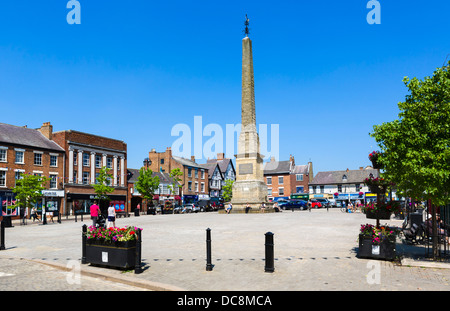
<path id="1" fill-rule="evenodd" d="M 417 260 L 397 239 L 402 262 L 356 257 L 361 224 L 373 223 L 361 213 L 340 209 L 283 211 L 281 213 L 141 215 L 119 218 L 116 226 L 143 228 L 144 271 L 121 271 L 81 265 L 82 225 L 89 217 L 42 225 L 6 228 L 6 250 L 0 251 L 0 290 L 11 287 L 9 275 L 20 266 L 38 265 L 70 273 L 79 264 L 88 276 L 81 285 L 61 279 L 64 290 L 87 290 L 93 279 L 146 290 L 186 291 L 303 291 L 303 290 L 448 290 L 450 264 Z M 382 221 L 382 224 L 384 222 Z M 401 220 L 386 221 L 401 226 Z M 206 229 L 211 229 L 213 270 L 206 271 Z M 265 233 L 274 234 L 275 271 L 264 272 Z M 420 253 L 423 251 L 419 251 Z M 404 257 L 406 255 L 406 258 Z M 415 255 L 417 256 L 417 254 Z M 411 257 L 411 258 L 410 258 Z M 15 272 L 4 263 L 22 263 Z M 28 281 L 44 282 L 45 274 Z M 9 276 L 12 278 L 12 276 Z M 40 279 L 42 278 L 42 279 Z M 22 282 L 27 282 L 26 279 Z M 108 285 L 110 286 L 110 285 Z M 39 287 L 37 287 L 39 288 Z M 104 287 L 98 286 L 99 290 Z M 34 288 L 32 288 L 34 289 Z M 106 287 L 106 290 L 113 287 Z"/>

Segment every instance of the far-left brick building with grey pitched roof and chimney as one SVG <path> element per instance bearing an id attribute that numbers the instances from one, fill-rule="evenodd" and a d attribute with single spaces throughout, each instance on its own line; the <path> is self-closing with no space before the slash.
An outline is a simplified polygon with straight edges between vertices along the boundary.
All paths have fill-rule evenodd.
<path id="1" fill-rule="evenodd" d="M 10 207 L 15 202 L 12 189 L 21 174 L 49 177 L 38 209 L 60 212 L 64 206 L 64 149 L 52 141 L 52 125 L 43 123 L 31 129 L 0 123 L 0 210 L 2 216 L 18 214 Z M 30 211 L 27 214 L 30 215 Z M 56 213 L 55 213 L 56 214 Z"/>

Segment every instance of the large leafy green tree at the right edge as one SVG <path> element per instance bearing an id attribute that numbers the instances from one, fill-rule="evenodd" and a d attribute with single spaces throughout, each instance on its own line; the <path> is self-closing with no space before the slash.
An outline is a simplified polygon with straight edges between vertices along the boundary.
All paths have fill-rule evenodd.
<path id="1" fill-rule="evenodd" d="M 375 125 L 383 176 L 405 197 L 428 200 L 433 218 L 433 256 L 437 256 L 436 206 L 450 200 L 450 62 L 422 81 L 405 77 L 409 95 L 399 119 Z"/>

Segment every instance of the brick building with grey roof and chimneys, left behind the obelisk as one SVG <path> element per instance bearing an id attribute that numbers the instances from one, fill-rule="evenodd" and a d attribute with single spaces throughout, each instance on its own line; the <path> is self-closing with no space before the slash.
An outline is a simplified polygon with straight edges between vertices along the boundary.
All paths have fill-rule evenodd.
<path id="1" fill-rule="evenodd" d="M 144 167 L 153 172 L 170 173 L 179 168 L 183 175 L 180 177 L 182 186 L 181 197 L 184 203 L 190 203 L 205 198 L 209 193 L 208 169 L 195 162 L 195 157 L 185 159 L 172 155 L 172 150 L 167 147 L 164 152 L 156 152 L 152 149 L 148 158 L 144 160 Z M 209 196 L 208 196 L 209 197 Z"/>

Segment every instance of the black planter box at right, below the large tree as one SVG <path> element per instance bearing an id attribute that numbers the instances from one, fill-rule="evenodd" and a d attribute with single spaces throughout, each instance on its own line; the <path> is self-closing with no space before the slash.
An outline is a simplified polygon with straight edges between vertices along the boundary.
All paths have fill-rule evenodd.
<path id="1" fill-rule="evenodd" d="M 375 248 L 373 248 L 375 246 Z M 376 246 L 379 246 L 377 248 Z M 380 245 L 374 245 L 371 237 L 359 235 L 359 258 L 394 260 L 395 258 L 395 239 L 385 239 Z"/>

